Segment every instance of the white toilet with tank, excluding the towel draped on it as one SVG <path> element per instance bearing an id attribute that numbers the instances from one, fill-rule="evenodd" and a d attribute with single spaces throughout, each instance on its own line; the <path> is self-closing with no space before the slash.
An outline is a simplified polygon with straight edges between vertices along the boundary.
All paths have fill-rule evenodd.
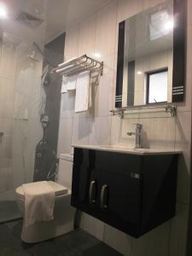
<path id="1" fill-rule="evenodd" d="M 54 219 L 49 222 L 39 222 L 25 225 L 25 197 L 22 186 L 16 191 L 17 204 L 23 216 L 21 240 L 33 243 L 64 235 L 73 230 L 75 208 L 71 207 L 71 187 L 73 172 L 73 155 L 60 154 L 57 182 L 49 181 L 55 190 Z"/>

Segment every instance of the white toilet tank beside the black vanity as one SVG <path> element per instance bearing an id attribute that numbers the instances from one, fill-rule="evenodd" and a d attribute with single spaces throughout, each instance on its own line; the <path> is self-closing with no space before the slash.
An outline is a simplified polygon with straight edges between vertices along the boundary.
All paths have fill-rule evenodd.
<path id="1" fill-rule="evenodd" d="M 73 154 L 60 154 L 57 182 L 72 190 Z"/>

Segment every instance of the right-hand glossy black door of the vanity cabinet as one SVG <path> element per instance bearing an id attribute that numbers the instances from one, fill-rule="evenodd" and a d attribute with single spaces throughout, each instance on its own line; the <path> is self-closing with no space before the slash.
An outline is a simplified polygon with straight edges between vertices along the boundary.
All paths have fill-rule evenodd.
<path id="1" fill-rule="evenodd" d="M 100 219 L 138 236 L 141 212 L 142 157 L 96 151 Z"/>

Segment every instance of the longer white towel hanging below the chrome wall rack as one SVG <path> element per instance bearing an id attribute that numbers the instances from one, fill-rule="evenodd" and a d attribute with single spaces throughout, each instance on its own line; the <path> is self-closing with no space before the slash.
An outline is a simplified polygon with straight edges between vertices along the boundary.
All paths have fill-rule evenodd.
<path id="1" fill-rule="evenodd" d="M 80 73 L 76 83 L 75 112 L 87 111 L 90 107 L 90 72 Z"/>

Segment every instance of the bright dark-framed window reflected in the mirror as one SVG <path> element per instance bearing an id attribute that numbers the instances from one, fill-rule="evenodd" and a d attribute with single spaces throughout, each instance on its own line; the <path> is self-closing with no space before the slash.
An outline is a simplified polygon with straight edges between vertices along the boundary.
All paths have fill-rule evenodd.
<path id="1" fill-rule="evenodd" d="M 167 74 L 167 67 L 147 73 L 147 104 L 167 102 Z"/>

